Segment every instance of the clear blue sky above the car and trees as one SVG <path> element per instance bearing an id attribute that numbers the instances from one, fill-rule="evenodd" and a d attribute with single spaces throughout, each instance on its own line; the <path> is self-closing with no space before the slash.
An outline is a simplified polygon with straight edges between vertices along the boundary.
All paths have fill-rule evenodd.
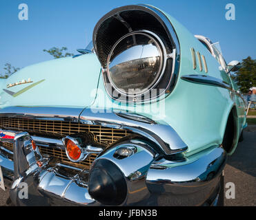
<path id="1" fill-rule="evenodd" d="M 28 21 L 18 19 L 20 3 L 28 5 Z M 106 12 L 134 3 L 155 5 L 193 34 L 219 41 L 227 62 L 256 58 L 255 0 L 1 0 L 0 74 L 7 62 L 26 67 L 52 59 L 43 49 L 66 46 L 76 54 L 90 42 L 95 24 Z M 235 5 L 235 21 L 225 19 L 227 3 Z"/>

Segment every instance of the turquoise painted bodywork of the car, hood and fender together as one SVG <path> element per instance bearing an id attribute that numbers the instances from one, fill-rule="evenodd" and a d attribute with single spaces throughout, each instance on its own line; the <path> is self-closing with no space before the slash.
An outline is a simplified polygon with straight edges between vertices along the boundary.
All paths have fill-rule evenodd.
<path id="1" fill-rule="evenodd" d="M 190 159 L 179 164 L 170 163 L 166 165 L 168 168 L 193 164 L 201 157 L 211 155 L 221 146 L 228 118 L 233 114 L 236 131 L 233 147 L 227 152 L 231 155 L 235 151 L 242 129 L 246 126 L 244 100 L 235 91 L 235 85 L 226 70 L 220 68 L 220 63 L 206 46 L 173 17 L 161 12 L 173 25 L 180 47 L 178 78 L 171 93 L 144 104 L 130 104 L 112 99 L 104 87 L 101 63 L 97 54 L 92 52 L 31 65 L 7 79 L 1 79 L 0 108 L 81 109 L 78 111 L 79 117 L 85 109 L 102 113 L 128 112 L 143 115 L 156 124 L 171 126 L 187 146 L 183 154 Z M 197 67 L 193 67 L 191 48 L 205 57 L 207 71 L 205 68 L 200 69 L 198 61 Z M 209 76 L 224 81 L 232 89 L 191 83 L 182 78 L 188 75 Z M 32 83 L 8 87 L 29 78 Z M 202 173 L 202 176 L 208 174 L 205 170 Z M 148 175 L 151 173 L 148 172 Z"/>

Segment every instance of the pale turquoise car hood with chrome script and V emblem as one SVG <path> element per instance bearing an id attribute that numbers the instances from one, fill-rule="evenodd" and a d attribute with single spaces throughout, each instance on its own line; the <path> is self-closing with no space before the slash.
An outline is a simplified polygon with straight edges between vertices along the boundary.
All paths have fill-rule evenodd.
<path id="1" fill-rule="evenodd" d="M 1 80 L 0 107 L 88 107 L 95 100 L 100 70 L 95 54 L 25 67 Z"/>

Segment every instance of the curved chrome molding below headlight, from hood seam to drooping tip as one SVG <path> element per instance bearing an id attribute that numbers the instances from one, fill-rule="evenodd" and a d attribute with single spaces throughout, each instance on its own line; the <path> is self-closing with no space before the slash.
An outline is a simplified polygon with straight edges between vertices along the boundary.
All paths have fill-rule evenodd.
<path id="1" fill-rule="evenodd" d="M 80 122 L 83 124 L 98 124 L 102 126 L 127 129 L 138 133 L 152 140 L 161 148 L 164 153 L 170 155 L 186 151 L 188 146 L 181 140 L 181 137 L 168 124 L 148 124 L 123 118 L 118 112 L 99 112 L 97 109 L 84 109 L 80 115 Z"/>

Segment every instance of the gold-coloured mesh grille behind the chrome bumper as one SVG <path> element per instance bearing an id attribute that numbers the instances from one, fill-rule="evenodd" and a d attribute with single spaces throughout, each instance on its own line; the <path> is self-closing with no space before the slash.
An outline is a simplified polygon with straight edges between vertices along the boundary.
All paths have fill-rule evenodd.
<path id="1" fill-rule="evenodd" d="M 63 122 L 55 120 L 33 120 L 26 118 L 0 118 L 0 128 L 9 129 L 14 131 L 28 131 L 28 133 L 47 135 L 59 135 L 65 137 L 66 135 L 89 132 L 95 135 L 99 144 L 105 144 L 109 146 L 110 144 L 116 142 L 121 137 L 126 137 L 130 135 L 129 131 L 124 129 L 112 129 L 100 125 L 90 125 L 90 124 L 80 124 L 76 122 Z M 1 146 L 13 151 L 13 144 L 10 143 L 0 143 Z M 42 155 L 48 155 L 57 159 L 57 161 L 68 164 L 70 166 L 75 166 L 77 168 L 90 169 L 90 165 L 95 160 L 97 155 L 90 155 L 83 162 L 70 162 L 66 156 L 66 151 L 59 148 L 52 148 L 49 146 L 38 146 L 39 151 Z"/>

